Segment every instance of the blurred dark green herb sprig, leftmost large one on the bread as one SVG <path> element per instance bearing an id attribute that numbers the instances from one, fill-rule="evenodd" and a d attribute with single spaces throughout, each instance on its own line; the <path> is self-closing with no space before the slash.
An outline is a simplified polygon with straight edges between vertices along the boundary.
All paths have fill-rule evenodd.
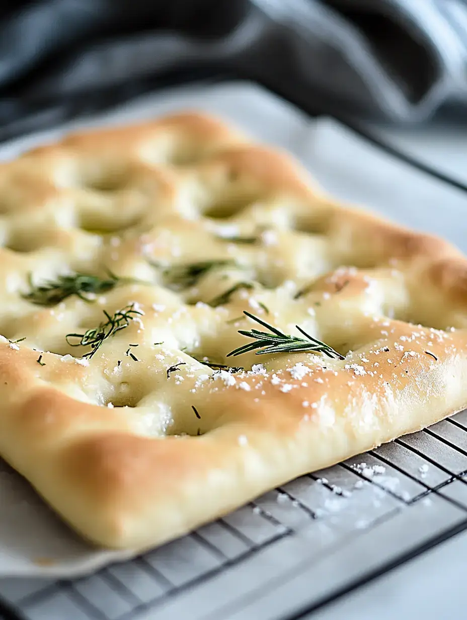
<path id="1" fill-rule="evenodd" d="M 108 271 L 107 278 L 99 278 L 87 273 L 70 273 L 60 275 L 56 280 L 46 280 L 41 285 L 34 285 L 32 275 L 29 275 L 29 293 L 24 299 L 38 306 L 54 306 L 71 295 L 76 295 L 83 301 L 92 301 L 89 295 L 106 293 L 123 282 L 135 282 L 133 278 L 119 278 Z"/>

